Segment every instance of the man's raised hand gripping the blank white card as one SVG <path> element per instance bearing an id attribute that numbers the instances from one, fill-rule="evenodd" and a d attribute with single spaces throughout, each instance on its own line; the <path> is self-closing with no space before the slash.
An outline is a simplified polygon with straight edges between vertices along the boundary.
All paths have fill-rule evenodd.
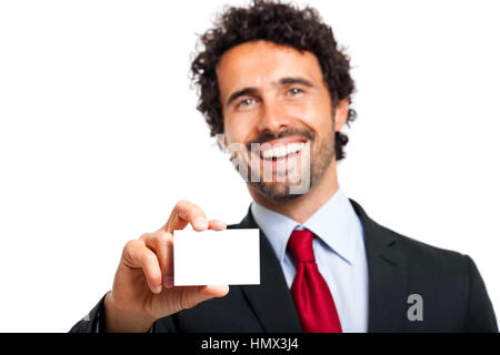
<path id="1" fill-rule="evenodd" d="M 180 201 L 160 230 L 128 242 L 104 298 L 106 332 L 147 332 L 158 318 L 228 294 L 228 285 L 173 286 L 172 233 L 188 224 L 197 231 L 226 229 L 208 221 L 198 205 Z"/>

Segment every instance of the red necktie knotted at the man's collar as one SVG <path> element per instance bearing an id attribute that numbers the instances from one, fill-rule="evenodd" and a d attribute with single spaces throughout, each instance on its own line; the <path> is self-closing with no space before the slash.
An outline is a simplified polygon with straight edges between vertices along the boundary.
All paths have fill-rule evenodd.
<path id="1" fill-rule="evenodd" d="M 297 267 L 291 286 L 293 302 L 304 333 L 342 333 L 330 288 L 316 264 L 313 237 L 311 231 L 296 230 L 288 241 Z"/>

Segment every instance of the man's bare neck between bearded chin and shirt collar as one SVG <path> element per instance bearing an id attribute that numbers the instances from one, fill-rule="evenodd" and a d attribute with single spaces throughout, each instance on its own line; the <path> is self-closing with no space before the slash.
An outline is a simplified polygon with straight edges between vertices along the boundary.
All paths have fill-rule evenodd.
<path id="1" fill-rule="evenodd" d="M 300 197 L 288 201 L 274 201 L 249 186 L 250 195 L 258 204 L 283 214 L 302 224 L 314 214 L 339 189 L 336 161 L 324 172 L 320 181 Z"/>

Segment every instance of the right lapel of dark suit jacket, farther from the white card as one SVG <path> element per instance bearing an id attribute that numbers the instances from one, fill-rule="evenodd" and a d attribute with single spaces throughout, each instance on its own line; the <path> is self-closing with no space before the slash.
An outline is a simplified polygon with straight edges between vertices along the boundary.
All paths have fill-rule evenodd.
<path id="1" fill-rule="evenodd" d="M 406 263 L 392 233 L 373 222 L 349 199 L 364 231 L 368 262 L 368 332 L 403 332 L 407 317 Z"/>

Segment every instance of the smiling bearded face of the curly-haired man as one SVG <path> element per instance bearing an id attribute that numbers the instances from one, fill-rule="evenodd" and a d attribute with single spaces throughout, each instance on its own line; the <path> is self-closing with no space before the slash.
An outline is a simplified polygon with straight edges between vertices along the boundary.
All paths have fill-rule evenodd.
<path id="1" fill-rule="evenodd" d="M 326 172 L 336 161 L 334 132 L 346 122 L 348 99 L 333 111 L 314 54 L 247 42 L 222 55 L 217 78 L 224 144 L 240 173 L 248 172 L 250 189 L 280 201 L 333 178 Z"/>

